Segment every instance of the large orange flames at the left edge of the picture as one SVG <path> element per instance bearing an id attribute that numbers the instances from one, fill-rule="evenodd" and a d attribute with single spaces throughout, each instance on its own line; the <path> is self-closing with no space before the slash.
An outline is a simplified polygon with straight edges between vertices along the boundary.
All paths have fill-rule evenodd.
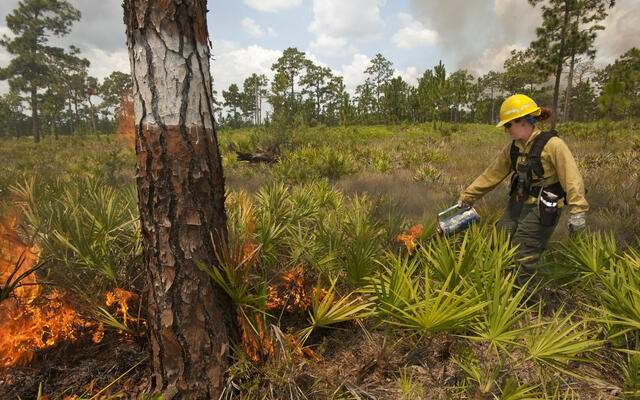
<path id="1" fill-rule="evenodd" d="M 0 286 L 15 283 L 32 271 L 40 250 L 27 246 L 14 227 L 16 218 L 0 223 Z M 17 283 L 11 297 L 0 303 L 0 367 L 29 363 L 36 350 L 61 340 L 75 340 L 79 326 L 87 326 L 57 290 L 43 293 L 34 271 Z"/>

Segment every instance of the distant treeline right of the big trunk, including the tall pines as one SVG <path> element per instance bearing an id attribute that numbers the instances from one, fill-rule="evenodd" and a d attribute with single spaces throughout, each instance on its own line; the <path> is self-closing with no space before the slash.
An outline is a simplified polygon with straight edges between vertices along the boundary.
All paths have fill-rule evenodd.
<path id="1" fill-rule="evenodd" d="M 271 82 L 254 74 L 244 81 L 242 91 L 231 85 L 222 92 L 218 107 L 226 112 L 219 111 L 218 120 L 230 127 L 292 119 L 308 125 L 493 123 L 500 101 L 513 93 L 551 106 L 560 120 L 640 116 L 638 49 L 631 48 L 603 69 L 593 64 L 595 40 L 605 29 L 600 23 L 615 0 L 528 2 L 542 16 L 536 39 L 526 50 L 513 51 L 502 72 L 480 77 L 465 70 L 447 73 L 440 62 L 412 86 L 394 77 L 392 62 L 377 54 L 365 70 L 366 80 L 349 94 L 342 77 L 288 48 L 271 67 Z M 261 115 L 262 97 L 271 104 L 268 116 Z"/>

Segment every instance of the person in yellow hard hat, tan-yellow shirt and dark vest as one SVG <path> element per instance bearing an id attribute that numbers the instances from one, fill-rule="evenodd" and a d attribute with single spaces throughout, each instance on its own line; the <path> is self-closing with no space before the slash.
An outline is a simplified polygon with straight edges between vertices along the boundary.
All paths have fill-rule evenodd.
<path id="1" fill-rule="evenodd" d="M 518 264 L 529 274 L 558 224 L 563 205 L 569 209 L 572 234 L 585 228 L 589 209 L 571 151 L 555 131 L 538 127 L 551 117 L 551 110 L 538 107 L 528 96 L 508 97 L 500 107 L 497 126 L 504 127 L 512 141 L 458 199 L 460 207 L 472 205 L 511 177 L 509 202 L 498 225 L 518 245 Z"/>

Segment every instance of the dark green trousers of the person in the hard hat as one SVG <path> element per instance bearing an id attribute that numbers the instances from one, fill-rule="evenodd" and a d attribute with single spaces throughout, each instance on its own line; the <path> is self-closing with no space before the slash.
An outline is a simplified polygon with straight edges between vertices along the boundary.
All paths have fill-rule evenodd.
<path id="1" fill-rule="evenodd" d="M 508 207 L 505 210 L 498 226 L 507 230 L 512 244 L 518 245 L 516 261 L 525 273 L 535 272 L 534 267 L 547 247 L 549 238 L 558 225 L 558 219 L 552 226 L 542 225 L 536 204 L 525 204 L 517 220 L 511 217 Z"/>

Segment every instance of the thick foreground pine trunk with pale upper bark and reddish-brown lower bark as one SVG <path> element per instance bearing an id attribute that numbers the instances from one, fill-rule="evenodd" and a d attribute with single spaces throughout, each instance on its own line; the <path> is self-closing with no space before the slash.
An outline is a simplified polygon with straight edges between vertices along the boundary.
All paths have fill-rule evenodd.
<path id="1" fill-rule="evenodd" d="M 198 263 L 226 240 L 205 0 L 125 0 L 147 272 L 152 390 L 217 399 L 234 333 L 228 297 Z"/>

